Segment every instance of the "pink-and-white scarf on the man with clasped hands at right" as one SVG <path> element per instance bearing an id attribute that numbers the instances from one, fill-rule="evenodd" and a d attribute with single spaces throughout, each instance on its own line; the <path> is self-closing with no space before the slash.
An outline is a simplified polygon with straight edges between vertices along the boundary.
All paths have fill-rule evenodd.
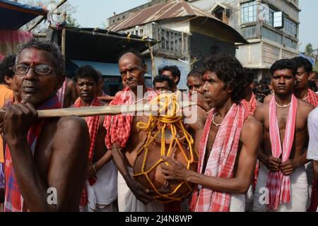
<path id="1" fill-rule="evenodd" d="M 282 148 L 276 115 L 275 96 L 273 96 L 269 104 L 269 136 L 271 138 L 271 152 L 273 157 L 281 158 L 282 162 L 286 162 L 289 159 L 290 151 L 293 148 L 297 109 L 298 100 L 295 95 L 293 95 L 288 112 Z M 269 172 L 266 188 L 269 189 L 269 209 L 277 210 L 280 203 L 290 203 L 289 176 L 284 176 L 281 171 Z"/>

